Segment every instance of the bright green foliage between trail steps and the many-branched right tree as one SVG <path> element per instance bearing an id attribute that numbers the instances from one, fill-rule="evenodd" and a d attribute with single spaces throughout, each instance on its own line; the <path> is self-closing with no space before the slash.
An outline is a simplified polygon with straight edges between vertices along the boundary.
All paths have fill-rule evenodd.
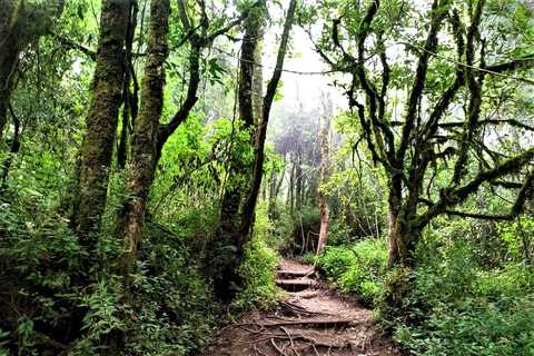
<path id="1" fill-rule="evenodd" d="M 387 240 L 365 239 L 352 247 L 327 247 L 317 266 L 343 291 L 355 293 L 374 305 L 379 299 L 387 269 Z"/>

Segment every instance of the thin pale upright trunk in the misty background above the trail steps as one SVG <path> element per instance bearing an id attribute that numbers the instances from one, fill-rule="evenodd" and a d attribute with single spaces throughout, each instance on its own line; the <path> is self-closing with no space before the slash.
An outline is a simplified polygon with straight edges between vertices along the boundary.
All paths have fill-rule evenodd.
<path id="1" fill-rule="evenodd" d="M 320 214 L 320 230 L 319 240 L 317 243 L 317 256 L 323 255 L 326 248 L 326 240 L 328 234 L 328 195 L 325 185 L 328 182 L 330 174 L 330 118 L 332 118 L 332 98 L 330 93 L 322 96 L 323 116 L 320 122 L 320 186 L 319 186 L 319 214 Z"/>

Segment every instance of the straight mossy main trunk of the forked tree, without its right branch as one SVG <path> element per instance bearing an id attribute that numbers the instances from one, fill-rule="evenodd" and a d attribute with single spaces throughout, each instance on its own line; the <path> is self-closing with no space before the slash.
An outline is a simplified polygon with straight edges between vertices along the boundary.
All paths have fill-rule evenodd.
<path id="1" fill-rule="evenodd" d="M 128 191 L 134 197 L 122 208 L 119 224 L 115 230 L 115 236 L 122 238 L 125 248 L 117 264 L 118 273 L 123 276 L 134 270 L 137 245 L 141 240 L 145 224 L 148 195 L 156 171 L 157 134 L 164 108 L 164 62 L 169 53 L 167 43 L 169 16 L 170 0 L 151 1 L 147 62 L 141 85 L 141 106 L 136 120 L 131 162 L 128 165 Z"/>

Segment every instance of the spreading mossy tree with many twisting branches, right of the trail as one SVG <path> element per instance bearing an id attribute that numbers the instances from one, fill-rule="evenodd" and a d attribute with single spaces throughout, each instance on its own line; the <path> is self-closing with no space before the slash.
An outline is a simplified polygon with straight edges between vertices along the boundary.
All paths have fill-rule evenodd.
<path id="1" fill-rule="evenodd" d="M 317 46 L 333 68 L 350 76 L 354 125 L 387 174 L 389 268 L 398 270 L 388 301 L 400 312 L 409 290 L 403 273 L 414 266 L 422 230 L 435 217 L 512 219 L 532 196 L 533 181 L 533 146 L 514 151 L 492 141 L 503 128 L 533 130 L 504 105 L 524 101 L 518 91 L 524 89 L 511 90 L 512 83 L 532 85 L 534 55 L 524 44 L 532 28 L 514 33 L 513 48 L 498 47 L 502 33 L 484 26 L 496 17 L 493 2 L 434 0 L 429 9 L 417 7 L 347 3 L 329 19 L 328 39 Z M 513 2 L 498 11 L 518 7 Z M 424 26 L 411 22 L 412 11 L 421 13 Z M 398 42 L 404 51 L 387 49 Z M 525 117 L 532 115 L 528 106 L 522 108 Z M 461 210 L 481 189 L 505 191 L 513 201 L 510 212 Z"/>

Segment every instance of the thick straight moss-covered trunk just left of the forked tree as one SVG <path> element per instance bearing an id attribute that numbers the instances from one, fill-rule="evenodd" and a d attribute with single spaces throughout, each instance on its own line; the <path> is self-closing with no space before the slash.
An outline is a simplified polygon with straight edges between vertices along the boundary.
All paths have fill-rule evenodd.
<path id="1" fill-rule="evenodd" d="M 123 46 L 130 1 L 103 0 L 91 105 L 75 196 L 73 224 L 85 245 L 106 207 L 106 192 L 116 141 L 121 83 L 126 71 Z"/>

